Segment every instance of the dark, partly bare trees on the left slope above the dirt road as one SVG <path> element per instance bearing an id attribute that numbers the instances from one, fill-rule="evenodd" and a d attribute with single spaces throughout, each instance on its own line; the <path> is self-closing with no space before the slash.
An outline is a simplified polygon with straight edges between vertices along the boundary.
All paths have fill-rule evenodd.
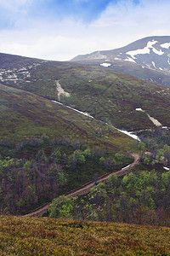
<path id="1" fill-rule="evenodd" d="M 0 212 L 5 214 L 30 212 L 95 179 L 96 173 L 111 172 L 131 161 L 125 153 L 87 148 L 66 137 L 33 137 L 16 145 L 3 142 L 1 147 Z"/>

